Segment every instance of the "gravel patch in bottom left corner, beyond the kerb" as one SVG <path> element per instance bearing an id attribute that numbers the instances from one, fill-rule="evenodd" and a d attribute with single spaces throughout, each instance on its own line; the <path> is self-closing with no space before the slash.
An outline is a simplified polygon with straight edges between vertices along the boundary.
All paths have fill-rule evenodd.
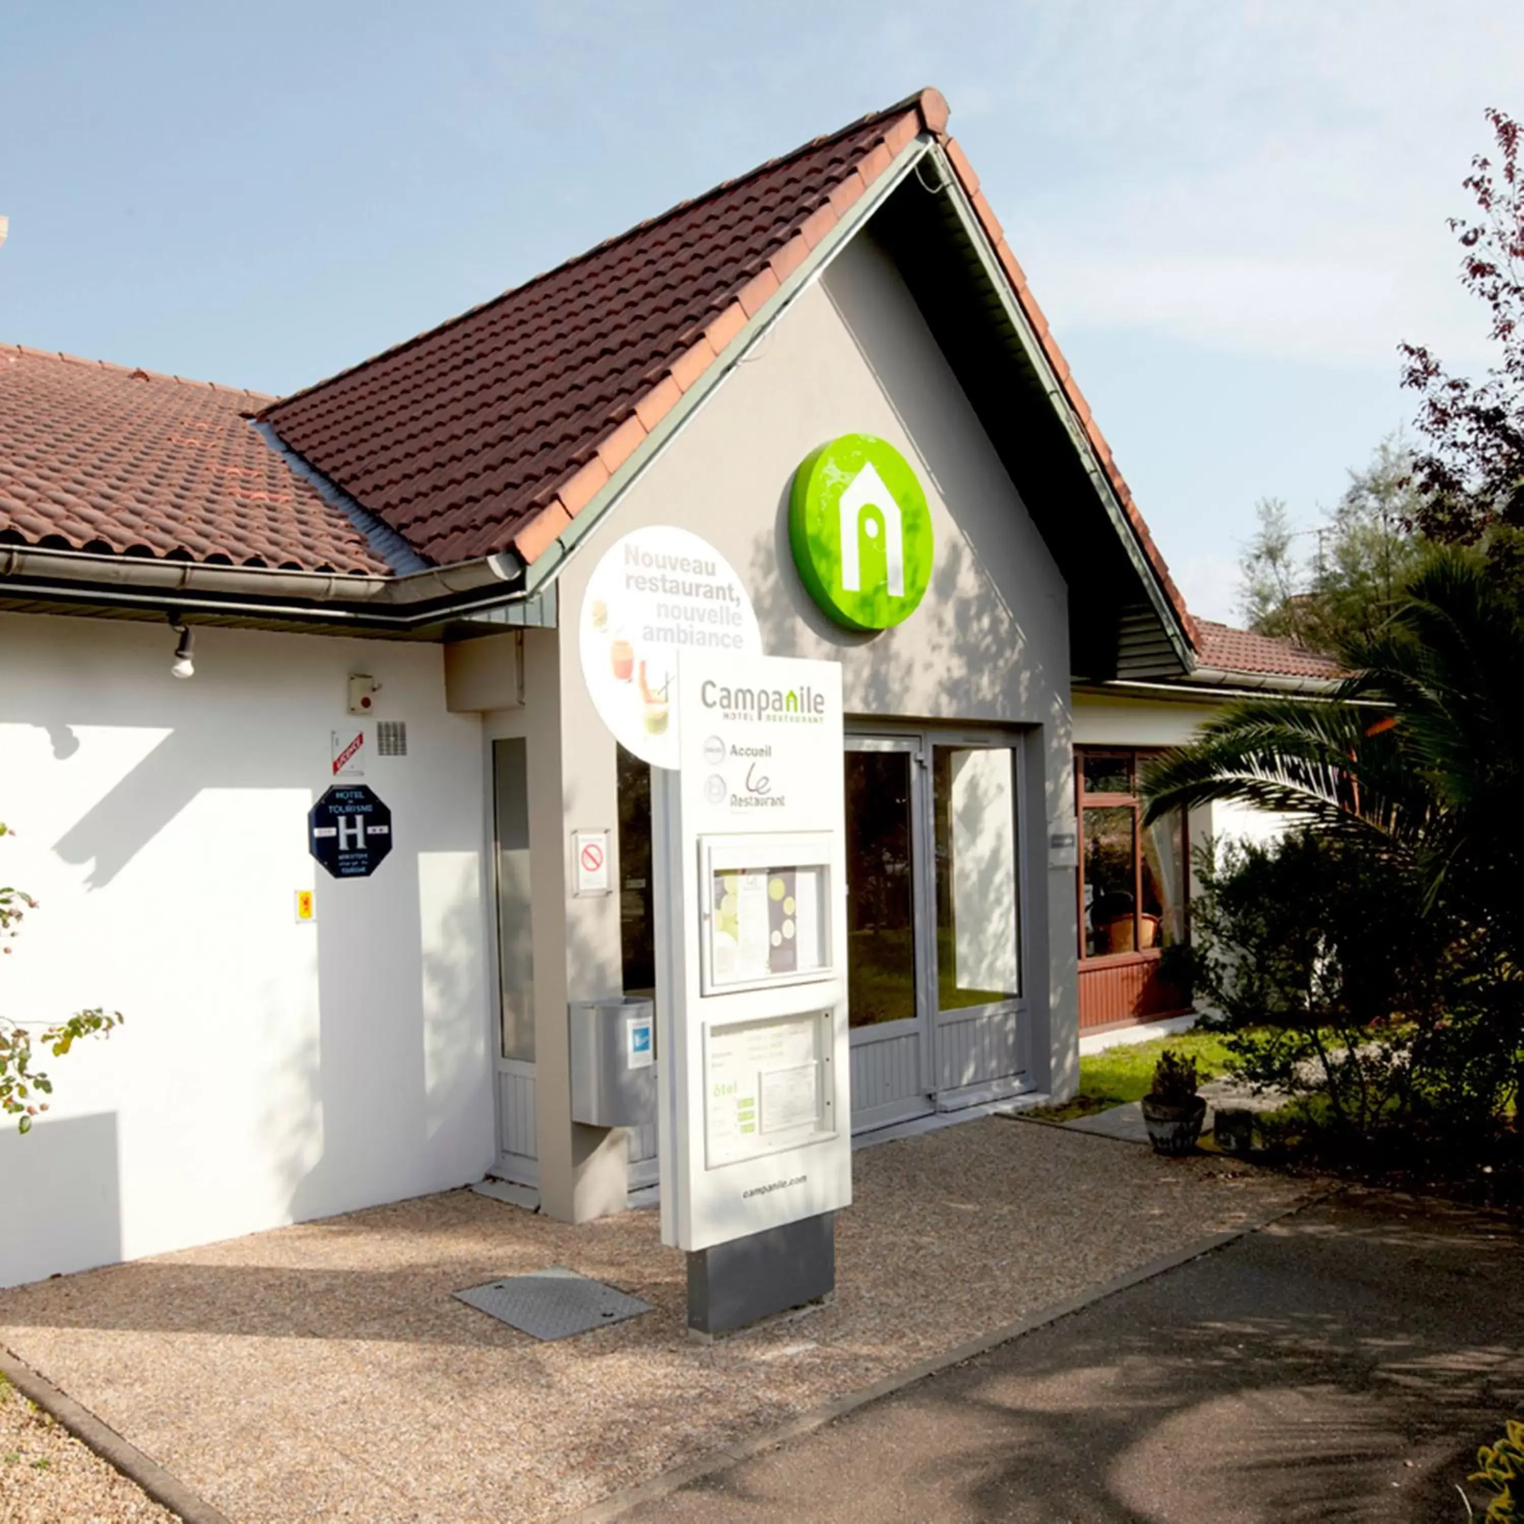
<path id="1" fill-rule="evenodd" d="M 174 1524 L 175 1515 L 0 1376 L 0 1524 Z"/>

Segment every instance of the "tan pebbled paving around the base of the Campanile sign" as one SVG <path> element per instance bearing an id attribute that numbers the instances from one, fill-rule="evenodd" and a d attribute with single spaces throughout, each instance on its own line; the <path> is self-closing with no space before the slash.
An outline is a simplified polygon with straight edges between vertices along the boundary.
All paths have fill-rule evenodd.
<path id="1" fill-rule="evenodd" d="M 239 1524 L 555 1519 L 1301 1199 L 989 1119 L 853 1157 L 834 1303 L 701 1346 L 654 1212 L 468 1190 L 0 1295 L 0 1341 Z M 652 1314 L 538 1344 L 451 1292 L 564 1265 Z"/>

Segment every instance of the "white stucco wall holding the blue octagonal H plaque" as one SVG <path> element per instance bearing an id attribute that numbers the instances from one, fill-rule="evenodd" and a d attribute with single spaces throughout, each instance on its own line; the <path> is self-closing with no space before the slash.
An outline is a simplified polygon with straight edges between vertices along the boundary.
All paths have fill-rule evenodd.
<path id="1" fill-rule="evenodd" d="M 0 1009 L 126 1026 L 49 1061 L 0 1129 L 0 1283 L 457 1186 L 494 1157 L 480 721 L 439 646 L 0 616 L 0 881 L 41 902 Z M 372 757 L 395 846 L 340 882 L 306 850 L 346 678 L 408 756 Z M 370 748 L 375 735 L 370 727 Z M 299 888 L 317 922 L 296 922 Z"/>

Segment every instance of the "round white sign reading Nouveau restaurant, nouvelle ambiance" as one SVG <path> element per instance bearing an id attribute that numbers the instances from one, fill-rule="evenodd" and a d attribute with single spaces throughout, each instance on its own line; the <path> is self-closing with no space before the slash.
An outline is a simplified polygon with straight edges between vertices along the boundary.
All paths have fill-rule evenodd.
<path id="1" fill-rule="evenodd" d="M 655 524 L 616 541 L 593 568 L 579 616 L 582 677 L 614 739 L 677 768 L 677 654 L 762 654 L 751 599 L 698 535 Z"/>

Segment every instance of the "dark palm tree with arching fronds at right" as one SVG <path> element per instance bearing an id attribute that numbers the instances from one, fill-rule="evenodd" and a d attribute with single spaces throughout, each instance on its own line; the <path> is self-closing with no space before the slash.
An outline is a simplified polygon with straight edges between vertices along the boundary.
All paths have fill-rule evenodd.
<path id="1" fill-rule="evenodd" d="M 1495 1114 L 1509 1090 L 1524 1102 L 1524 599 L 1480 558 L 1442 552 L 1343 658 L 1350 677 L 1332 696 L 1236 704 L 1160 757 L 1143 777 L 1145 820 L 1219 799 L 1292 817 L 1338 849 L 1343 908 L 1353 914 L 1343 917 L 1346 936 L 1381 907 L 1398 917 L 1422 907 L 1407 948 L 1420 963 L 1387 972 L 1413 995 L 1431 977 L 1449 995 L 1416 1029 L 1405 1062 L 1378 1073 L 1385 1061 L 1367 1064 L 1353 1032 L 1327 1050 L 1318 1029 L 1329 1012 L 1305 1013 L 1303 1036 L 1340 1116 L 1341 1085 L 1375 1076 L 1411 1090 L 1420 1062 L 1436 1058 L 1448 1065 L 1452 1106 L 1494 1097 Z M 1355 908 L 1372 902 L 1372 872 L 1387 890 L 1376 908 Z M 1340 919 L 1338 907 L 1323 910 Z M 1317 940 L 1329 928 L 1301 930 Z M 1347 995 L 1384 998 L 1382 969 L 1356 972 L 1358 956 L 1379 946 L 1381 936 L 1359 931 L 1330 946 L 1359 985 Z M 1455 998 L 1468 1020 L 1442 1036 Z"/>

